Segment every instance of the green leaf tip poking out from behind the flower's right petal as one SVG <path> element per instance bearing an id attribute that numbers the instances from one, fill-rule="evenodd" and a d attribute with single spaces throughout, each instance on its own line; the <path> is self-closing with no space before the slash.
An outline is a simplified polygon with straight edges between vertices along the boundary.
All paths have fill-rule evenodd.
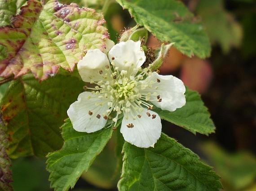
<path id="1" fill-rule="evenodd" d="M 184 127 L 188 131 L 196 134 L 208 135 L 215 132 L 215 126 L 210 118 L 210 113 L 198 92 L 186 89 L 186 104 L 185 106 L 170 112 L 154 108 L 154 111 L 159 114 L 161 119 L 165 119 L 180 127 Z"/>

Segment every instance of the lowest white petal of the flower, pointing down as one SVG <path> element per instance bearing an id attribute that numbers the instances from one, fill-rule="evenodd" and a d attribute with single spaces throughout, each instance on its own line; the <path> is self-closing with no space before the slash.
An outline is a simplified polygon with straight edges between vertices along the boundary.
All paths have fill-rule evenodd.
<path id="1" fill-rule="evenodd" d="M 154 147 L 154 144 L 161 136 L 162 130 L 159 115 L 154 111 L 145 108 L 139 113 L 141 118 L 137 117 L 136 119 L 133 119 L 132 113 L 137 117 L 134 111 L 131 111 L 128 119 L 124 117 L 122 121 L 120 132 L 123 134 L 124 140 L 141 148 Z M 147 113 L 150 113 L 150 117 Z M 152 115 L 155 115 L 155 118 Z M 128 128 L 127 125 L 129 126 L 129 124 L 132 124 L 133 127 Z"/>

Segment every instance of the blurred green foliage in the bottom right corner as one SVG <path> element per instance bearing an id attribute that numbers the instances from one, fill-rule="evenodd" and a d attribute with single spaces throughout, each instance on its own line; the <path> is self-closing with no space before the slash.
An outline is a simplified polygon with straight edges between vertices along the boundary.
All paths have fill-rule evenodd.
<path id="1" fill-rule="evenodd" d="M 256 158 L 252 154 L 244 151 L 227 153 L 212 142 L 202 144 L 202 148 L 221 175 L 226 189 L 241 190 L 255 182 Z"/>

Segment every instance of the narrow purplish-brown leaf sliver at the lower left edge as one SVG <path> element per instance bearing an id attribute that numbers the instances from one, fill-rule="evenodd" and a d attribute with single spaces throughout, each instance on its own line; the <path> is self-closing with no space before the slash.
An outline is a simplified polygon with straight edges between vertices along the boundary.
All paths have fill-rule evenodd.
<path id="1" fill-rule="evenodd" d="M 0 121 L 0 190 L 12 191 L 13 188 L 10 184 L 13 181 L 12 171 L 10 169 L 11 160 L 6 153 L 7 147 L 6 127 Z"/>

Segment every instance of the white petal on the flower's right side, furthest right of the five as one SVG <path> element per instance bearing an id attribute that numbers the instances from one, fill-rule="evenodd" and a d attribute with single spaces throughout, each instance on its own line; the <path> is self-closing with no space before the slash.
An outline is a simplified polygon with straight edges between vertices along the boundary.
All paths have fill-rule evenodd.
<path id="1" fill-rule="evenodd" d="M 144 83 L 154 83 L 151 86 L 146 87 L 146 89 L 143 89 L 141 92 L 150 92 L 150 102 L 155 106 L 160 107 L 162 110 L 175 111 L 177 108 L 181 108 L 185 105 L 185 85 L 177 77 L 171 75 L 162 76 L 153 72 L 145 79 Z M 160 99 L 162 99 L 161 102 L 158 102 L 156 95 L 153 95 L 154 92 L 160 96 Z"/>

